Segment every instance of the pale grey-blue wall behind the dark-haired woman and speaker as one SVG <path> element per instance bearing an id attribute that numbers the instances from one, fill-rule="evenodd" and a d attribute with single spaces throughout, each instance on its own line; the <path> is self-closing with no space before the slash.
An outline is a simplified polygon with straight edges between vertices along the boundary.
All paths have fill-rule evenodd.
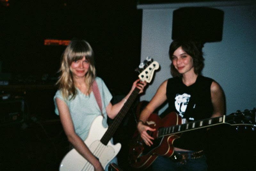
<path id="1" fill-rule="evenodd" d="M 168 57 L 172 42 L 172 13 L 188 6 L 208 6 L 224 11 L 222 41 L 204 44 L 203 75 L 213 78 L 223 88 L 227 114 L 256 107 L 255 1 L 138 5 L 143 9 L 141 61 L 150 56 L 161 66 L 140 100 L 149 101 L 159 85 L 172 77 Z"/>

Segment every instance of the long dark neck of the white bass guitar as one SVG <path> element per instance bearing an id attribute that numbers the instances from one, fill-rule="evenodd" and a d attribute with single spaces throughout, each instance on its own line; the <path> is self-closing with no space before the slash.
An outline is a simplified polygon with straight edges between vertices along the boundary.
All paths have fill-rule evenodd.
<path id="1" fill-rule="evenodd" d="M 138 96 L 139 92 L 140 92 L 140 89 L 138 89 L 138 88 L 135 88 L 132 91 L 132 94 L 127 99 L 127 101 L 124 103 L 124 106 L 121 108 L 119 113 L 116 115 L 113 123 L 108 127 L 108 130 L 105 132 L 105 134 L 100 139 L 100 142 L 102 144 L 104 144 L 104 145 L 108 144 L 108 142 L 110 141 L 111 137 L 114 135 L 116 129 L 120 125 L 121 121 L 124 119 L 125 114 L 128 112 L 128 110 L 130 109 L 132 103 L 134 102 L 134 100 Z"/>

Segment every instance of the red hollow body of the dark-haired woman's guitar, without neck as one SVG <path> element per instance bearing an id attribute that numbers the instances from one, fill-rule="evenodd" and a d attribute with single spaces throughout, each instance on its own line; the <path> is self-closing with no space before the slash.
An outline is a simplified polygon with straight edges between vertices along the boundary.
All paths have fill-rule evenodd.
<path id="1" fill-rule="evenodd" d="M 150 132 L 149 135 L 154 137 L 153 145 L 150 147 L 144 143 L 138 131 L 135 132 L 129 150 L 129 162 L 132 167 L 146 169 L 149 167 L 158 155 L 171 157 L 174 152 L 172 142 L 180 136 L 175 134 L 158 138 L 158 128 L 170 127 L 181 124 L 181 117 L 175 112 L 167 114 L 161 119 L 157 114 L 151 114 L 147 124 L 156 131 Z"/>

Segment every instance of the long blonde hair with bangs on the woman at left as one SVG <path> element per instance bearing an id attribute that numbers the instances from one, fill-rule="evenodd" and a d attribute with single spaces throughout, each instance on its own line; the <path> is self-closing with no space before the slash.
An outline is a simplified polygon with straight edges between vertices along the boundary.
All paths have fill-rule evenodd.
<path id="1" fill-rule="evenodd" d="M 90 44 L 84 40 L 72 40 L 62 54 L 61 66 L 59 70 L 61 74 L 56 84 L 59 85 L 62 96 L 66 100 L 75 98 L 77 94 L 70 66 L 73 61 L 80 60 L 84 56 L 90 63 L 89 70 L 85 75 L 85 84 L 88 88 L 87 93 L 89 93 L 92 82 L 96 77 L 94 53 Z M 68 97 L 70 98 L 68 99 Z"/>

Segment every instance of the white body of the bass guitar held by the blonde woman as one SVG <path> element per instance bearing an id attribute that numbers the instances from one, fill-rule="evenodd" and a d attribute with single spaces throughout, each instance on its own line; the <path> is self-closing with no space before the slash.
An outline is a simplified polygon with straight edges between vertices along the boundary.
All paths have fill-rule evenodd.
<path id="1" fill-rule="evenodd" d="M 98 116 L 93 120 L 88 137 L 84 143 L 88 146 L 90 151 L 96 156 L 103 168 L 114 159 L 121 149 L 121 144 L 113 145 L 110 141 L 107 145 L 100 142 L 100 138 L 107 131 L 107 128 L 102 126 L 102 116 Z M 75 171 L 75 170 L 94 170 L 94 167 L 82 157 L 75 149 L 72 149 L 66 154 L 60 163 L 60 171 Z"/>

